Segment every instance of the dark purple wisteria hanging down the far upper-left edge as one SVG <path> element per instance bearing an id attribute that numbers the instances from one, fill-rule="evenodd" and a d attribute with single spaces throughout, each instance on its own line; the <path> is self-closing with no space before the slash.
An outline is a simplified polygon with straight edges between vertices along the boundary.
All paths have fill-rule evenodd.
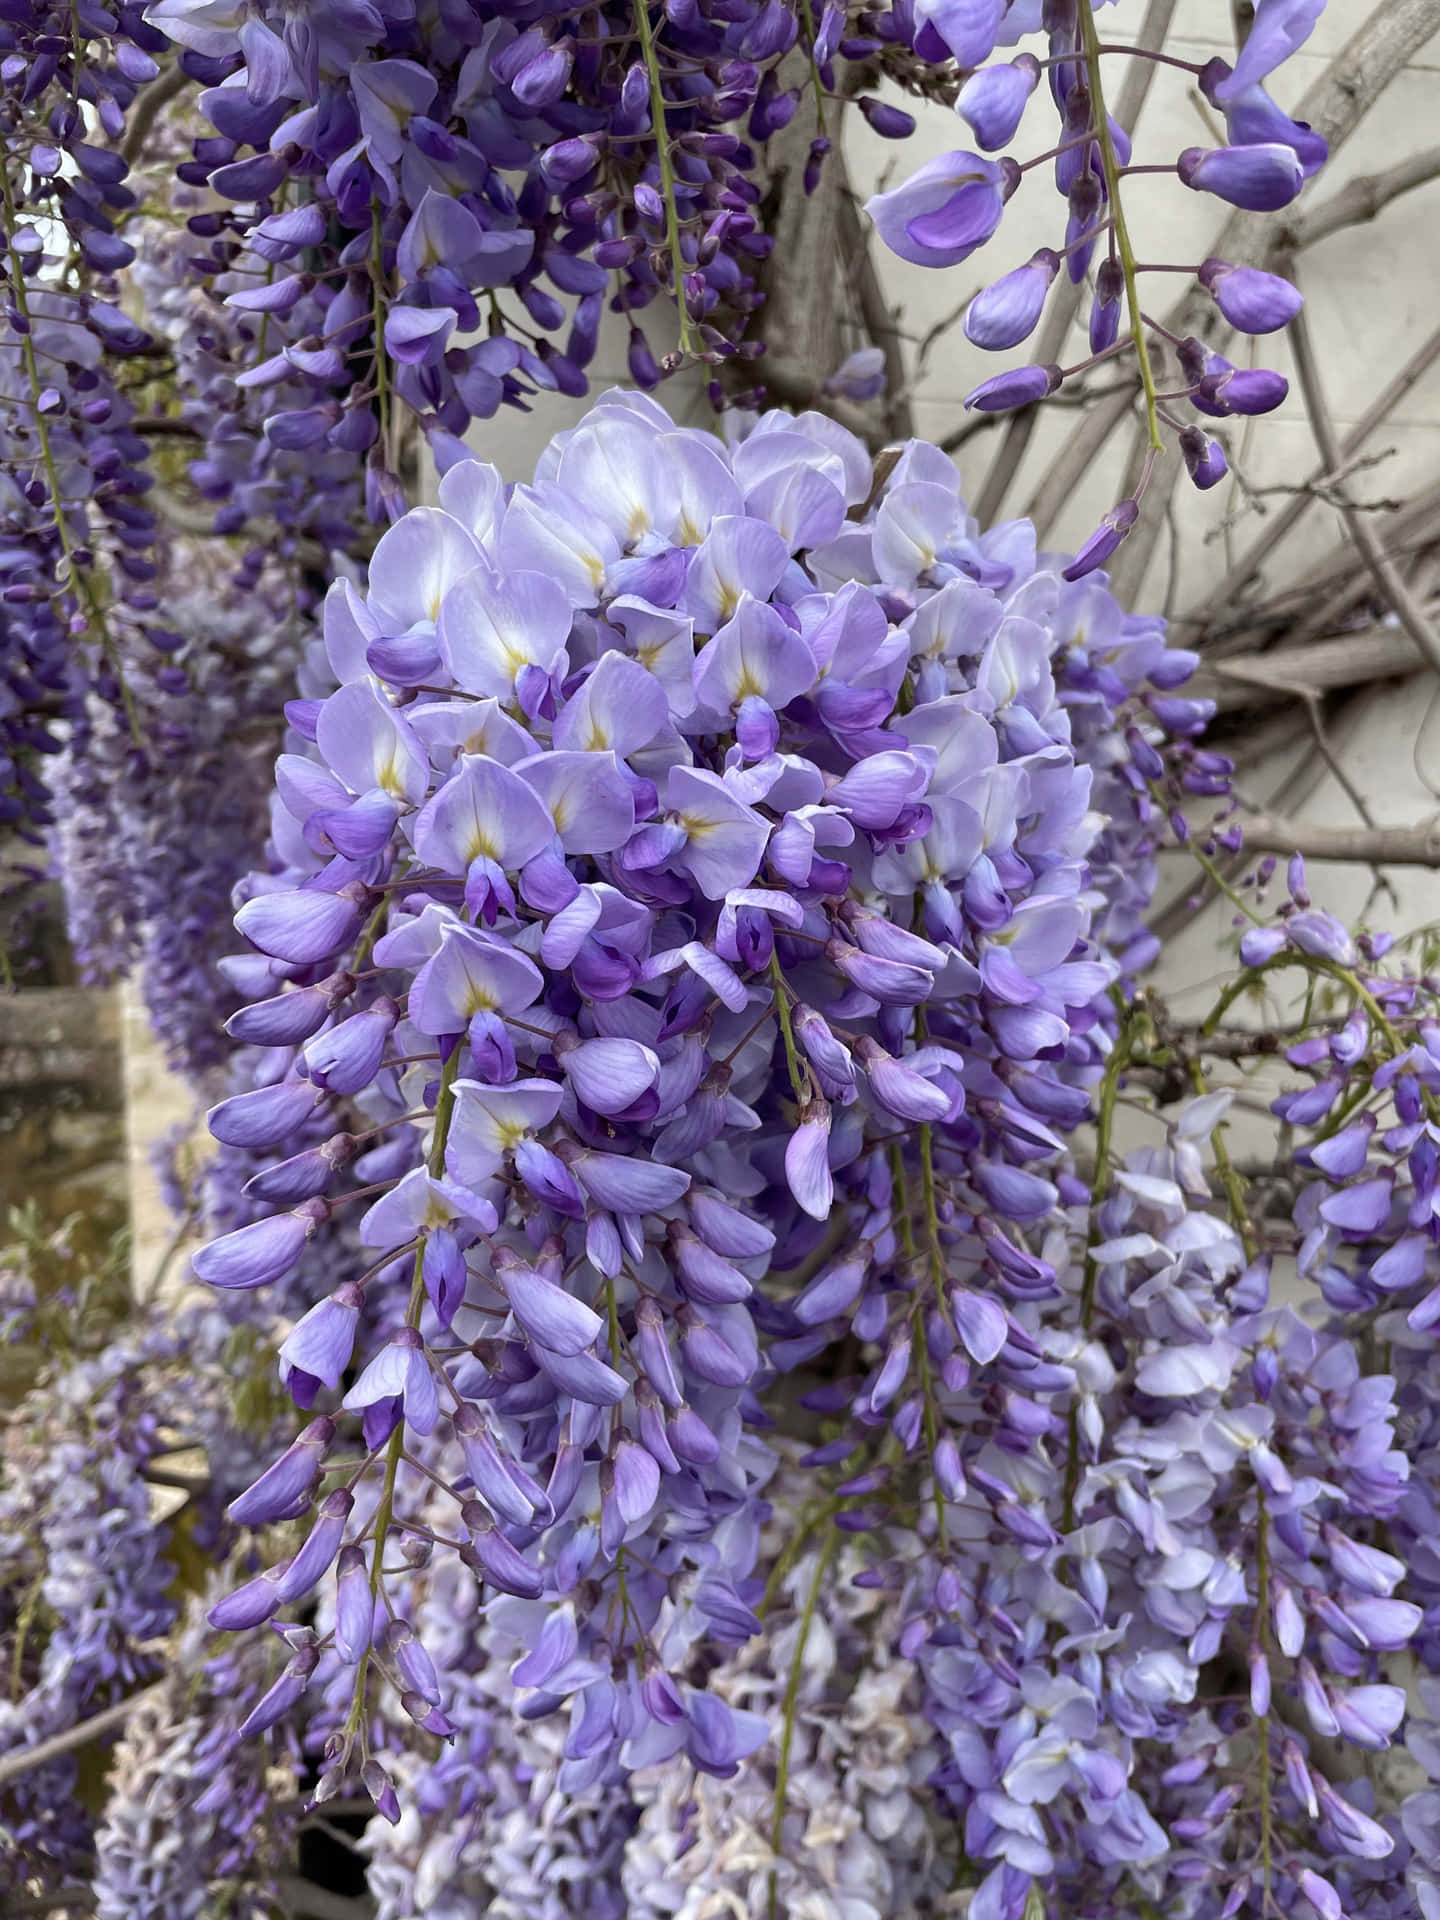
<path id="1" fill-rule="evenodd" d="M 121 140 L 159 75 L 142 6 L 8 6 L 0 21 L 0 812 L 48 820 L 54 722 L 121 705 L 119 639 L 154 605 L 148 444 L 127 392 L 150 336 L 115 275 L 134 257 Z"/>

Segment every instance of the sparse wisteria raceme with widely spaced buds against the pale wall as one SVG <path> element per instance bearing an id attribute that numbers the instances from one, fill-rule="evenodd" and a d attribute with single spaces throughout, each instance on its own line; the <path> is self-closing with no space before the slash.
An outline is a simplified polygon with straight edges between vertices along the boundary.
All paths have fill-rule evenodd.
<path id="1" fill-rule="evenodd" d="M 1121 182 L 1137 173 L 1175 175 L 1194 192 L 1213 194 L 1231 207 L 1275 213 L 1290 205 L 1327 157 L 1321 134 L 1283 113 L 1265 92 L 1265 81 L 1313 33 L 1325 0 L 1260 0 L 1235 63 L 1221 58 L 1196 63 L 1171 54 L 1156 56 L 1140 46 L 1102 42 L 1096 21 L 1100 4 L 1102 0 L 1060 0 L 1041 8 L 1029 0 L 993 0 L 981 6 L 968 0 L 918 0 L 922 31 L 916 52 L 929 60 L 948 52 L 962 69 L 954 109 L 981 152 L 939 154 L 900 186 L 876 194 L 868 205 L 879 238 L 900 259 L 920 267 L 954 267 L 1000 228 L 1004 205 L 1021 177 L 1031 167 L 1054 161 L 1054 184 L 1066 204 L 1064 238 L 1056 236 L 1056 246 L 1041 248 L 977 294 L 966 309 L 964 330 L 973 346 L 987 351 L 1021 346 L 1039 326 L 1062 269 L 1081 286 L 1094 265 L 1091 353 L 1075 367 L 1037 363 L 995 374 L 970 394 L 966 405 L 987 413 L 1027 407 L 1096 363 L 1133 353 L 1144 392 L 1150 453 L 1133 495 L 1110 509 L 1081 549 L 1081 559 L 1091 566 L 1102 566 L 1135 526 L 1140 495 L 1164 451 L 1162 424 L 1175 432 L 1194 486 L 1206 490 L 1227 472 L 1225 449 L 1208 422 L 1269 413 L 1286 396 L 1283 374 L 1263 367 L 1236 367 L 1208 342 L 1179 338 L 1160 324 L 1142 309 L 1140 276 L 1194 271 L 1225 326 L 1242 334 L 1279 332 L 1302 305 L 1288 280 L 1254 265 L 1219 257 L 1194 269 L 1137 261 L 1121 205 Z M 1010 50 L 1037 31 L 1046 35 L 1046 60 L 1025 50 L 987 65 L 996 46 Z M 1110 71 L 1108 56 L 1114 54 L 1133 60 L 1164 58 L 1187 67 L 1204 100 L 1223 119 L 1227 144 L 1190 146 L 1167 165 L 1133 165 L 1129 134 L 1114 121 L 1106 104 L 1104 77 Z M 1060 142 L 1020 167 L 1006 148 L 1043 77 L 1060 117 Z M 1156 336 L 1165 344 L 1162 351 L 1173 349 L 1177 384 L 1165 382 L 1173 386 L 1165 394 L 1158 392 L 1162 382 L 1152 365 Z M 1177 409 L 1187 405 L 1190 411 L 1181 415 Z"/>

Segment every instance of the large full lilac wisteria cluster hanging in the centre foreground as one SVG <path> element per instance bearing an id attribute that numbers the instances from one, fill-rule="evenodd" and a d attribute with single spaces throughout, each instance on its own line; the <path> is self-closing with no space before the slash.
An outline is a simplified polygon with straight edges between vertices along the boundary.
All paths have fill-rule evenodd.
<path id="1" fill-rule="evenodd" d="M 751 1501 L 756 1392 L 852 1323 L 876 1359 L 831 1411 L 933 1457 L 943 1507 L 964 1478 L 945 1396 L 1010 1340 L 989 1283 L 950 1284 L 958 1190 L 993 1215 L 979 1269 L 1052 1292 L 1000 1223 L 1058 1204 L 1056 1127 L 1114 1033 L 1089 854 L 1142 864 L 1135 755 L 1206 718 L 1169 691 L 1190 657 L 1104 599 L 1039 564 L 1023 522 L 979 536 L 931 447 L 876 486 L 818 415 L 726 449 L 624 394 L 509 497 L 457 463 L 382 538 L 369 593 L 332 589 L 342 684 L 292 707 L 313 751 L 278 764 L 282 870 L 236 920 L 280 991 L 230 1029 L 273 1066 L 211 1114 L 240 1148 L 328 1133 L 265 1175 L 288 1210 L 196 1273 L 284 1279 L 359 1139 L 392 1133 L 386 1190 L 361 1188 L 369 1269 L 303 1315 L 282 1375 L 311 1405 L 361 1369 L 344 1405 L 382 1482 L 453 1432 L 451 1546 L 536 1632 L 559 1622 L 534 1684 L 559 1705 L 601 1645 L 630 1663 L 582 1707 L 595 1755 L 743 1757 L 749 1722 L 682 1690 L 657 1622 Z M 1071 708 L 1106 760 L 1104 833 Z M 357 1352 L 376 1284 L 399 1311 Z M 242 1517 L 305 1501 L 338 1411 Z M 338 1567 L 342 1772 L 386 1584 L 384 1500 L 351 1524 L 365 1480 L 215 1615 L 269 1619 Z M 751 1619 L 733 1524 L 691 1632 Z"/>

